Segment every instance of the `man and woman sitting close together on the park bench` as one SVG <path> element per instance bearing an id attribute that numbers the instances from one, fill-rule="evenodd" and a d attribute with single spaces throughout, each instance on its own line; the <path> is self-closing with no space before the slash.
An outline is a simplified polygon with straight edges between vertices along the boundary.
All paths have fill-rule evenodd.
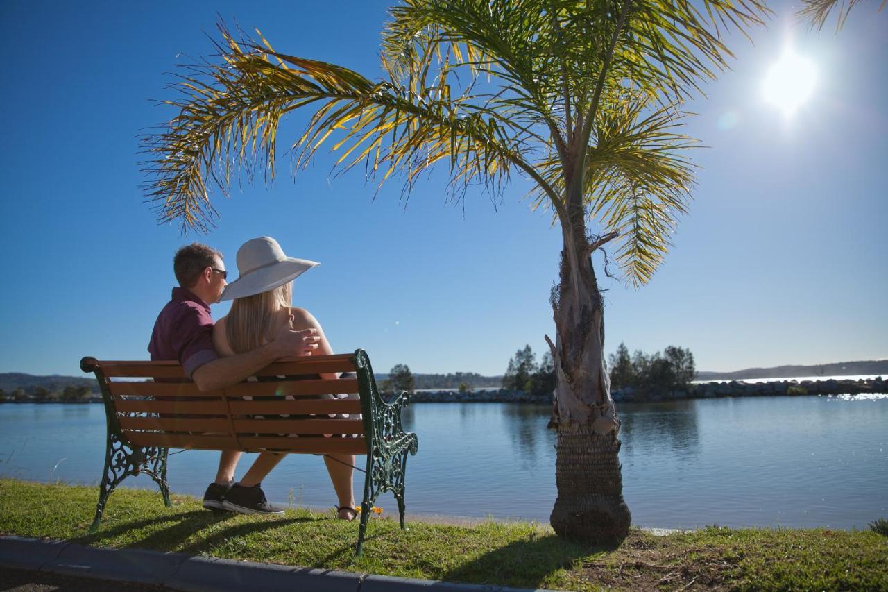
<path id="1" fill-rule="evenodd" d="M 332 354 L 321 325 L 303 308 L 291 307 L 293 280 L 318 265 L 287 257 L 274 238 L 262 236 L 237 252 L 239 277 L 226 284 L 222 254 L 204 244 L 176 253 L 178 287 L 157 316 L 148 351 L 152 360 L 178 360 L 202 391 L 230 387 L 281 358 Z M 234 300 L 228 316 L 214 324 L 210 303 Z M 338 378 L 321 374 L 322 379 Z M 282 514 L 266 500 L 261 482 L 283 454 L 260 452 L 240 482 L 234 470 L 242 452 L 223 451 L 216 479 L 207 487 L 203 507 L 243 514 Z M 356 516 L 353 454 L 325 454 L 338 498 L 338 517 Z"/>

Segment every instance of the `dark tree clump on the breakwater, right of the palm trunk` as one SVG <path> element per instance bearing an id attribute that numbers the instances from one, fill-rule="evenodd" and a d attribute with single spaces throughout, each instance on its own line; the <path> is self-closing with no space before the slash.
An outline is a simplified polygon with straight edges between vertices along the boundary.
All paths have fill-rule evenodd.
<path id="1" fill-rule="evenodd" d="M 610 355 L 608 366 L 611 389 L 638 388 L 654 392 L 681 390 L 694 380 L 694 354 L 690 349 L 669 346 L 662 352 L 648 355 L 637 349 L 632 356 L 624 343 Z"/>

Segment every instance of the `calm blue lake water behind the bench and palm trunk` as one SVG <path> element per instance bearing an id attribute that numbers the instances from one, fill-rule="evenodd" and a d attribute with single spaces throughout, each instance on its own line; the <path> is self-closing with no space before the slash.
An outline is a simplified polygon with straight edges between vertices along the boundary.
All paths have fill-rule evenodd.
<path id="1" fill-rule="evenodd" d="M 698 399 L 618 410 L 633 524 L 862 529 L 888 517 L 888 396 Z M 556 495 L 549 411 L 408 407 L 405 423 L 419 436 L 419 453 L 408 460 L 408 513 L 548 522 Z M 2 476 L 97 484 L 104 446 L 100 404 L 0 405 Z M 254 456 L 241 460 L 239 475 Z M 170 456 L 170 488 L 202 495 L 217 461 L 218 452 Z M 125 484 L 155 487 L 144 476 Z M 263 487 L 284 504 L 329 508 L 336 501 L 321 458 L 310 455 L 283 460 Z M 356 472 L 359 501 L 362 487 Z M 397 515 L 391 494 L 377 504 Z"/>

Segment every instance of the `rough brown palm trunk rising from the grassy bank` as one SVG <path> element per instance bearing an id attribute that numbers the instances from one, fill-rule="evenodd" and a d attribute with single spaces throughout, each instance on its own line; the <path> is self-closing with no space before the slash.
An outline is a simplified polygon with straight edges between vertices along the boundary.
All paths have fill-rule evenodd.
<path id="1" fill-rule="evenodd" d="M 592 247 L 582 217 L 565 221 L 560 284 L 552 298 L 556 343 L 546 338 L 557 377 L 549 426 L 558 433 L 558 498 L 550 521 L 561 537 L 611 543 L 625 538 L 631 519 L 617 459 L 620 420 L 604 364 L 602 302 Z"/>

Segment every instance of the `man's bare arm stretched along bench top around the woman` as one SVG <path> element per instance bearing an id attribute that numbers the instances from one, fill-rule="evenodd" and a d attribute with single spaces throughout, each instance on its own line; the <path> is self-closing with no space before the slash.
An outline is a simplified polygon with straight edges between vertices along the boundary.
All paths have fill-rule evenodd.
<path id="1" fill-rule="evenodd" d="M 202 391 L 226 388 L 252 376 L 283 356 L 311 356 L 318 348 L 318 335 L 314 329 L 290 331 L 281 329 L 274 341 L 237 356 L 220 357 L 203 364 L 195 370 L 191 378 Z"/>

